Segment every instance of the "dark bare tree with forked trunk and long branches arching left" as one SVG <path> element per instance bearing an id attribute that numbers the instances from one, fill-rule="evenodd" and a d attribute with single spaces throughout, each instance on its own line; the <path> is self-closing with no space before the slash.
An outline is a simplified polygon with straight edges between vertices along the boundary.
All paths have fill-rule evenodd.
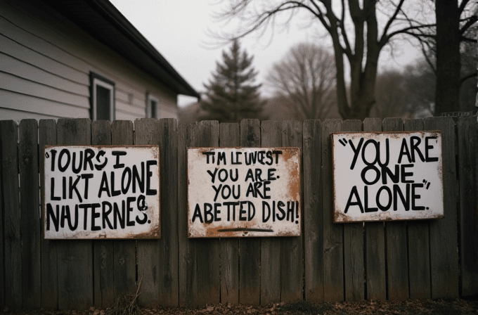
<path id="1" fill-rule="evenodd" d="M 368 117 L 375 103 L 380 51 L 396 35 L 428 26 L 404 22 L 404 1 L 349 0 L 346 4 L 345 0 L 229 0 L 228 6 L 219 12 L 218 17 L 226 22 L 238 18 L 240 30 L 217 35 L 235 39 L 254 30 L 264 31 L 269 23 L 274 25 L 280 13 L 289 12 L 290 18 L 298 11 L 310 13 L 314 20 L 325 27 L 332 39 L 339 113 L 344 119 L 363 120 Z M 385 23 L 381 23 L 382 30 L 379 30 L 377 23 L 377 12 L 380 16 L 384 15 L 381 19 L 385 20 Z M 350 68 L 350 93 L 347 93 L 345 79 L 347 62 Z"/>

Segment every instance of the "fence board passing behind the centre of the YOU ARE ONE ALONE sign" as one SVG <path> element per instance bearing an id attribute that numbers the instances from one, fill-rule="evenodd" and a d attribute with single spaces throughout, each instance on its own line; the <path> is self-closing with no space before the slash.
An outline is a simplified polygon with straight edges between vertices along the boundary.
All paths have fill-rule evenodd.
<path id="1" fill-rule="evenodd" d="M 401 118 L 385 118 L 382 131 L 403 131 Z M 385 222 L 387 286 L 389 300 L 408 299 L 408 252 L 406 221 Z"/>

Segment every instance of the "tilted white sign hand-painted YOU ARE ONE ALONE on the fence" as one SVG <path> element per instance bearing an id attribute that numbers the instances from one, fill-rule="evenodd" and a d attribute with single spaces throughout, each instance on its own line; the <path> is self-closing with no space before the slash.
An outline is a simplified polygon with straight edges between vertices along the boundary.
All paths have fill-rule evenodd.
<path id="1" fill-rule="evenodd" d="M 334 222 L 444 217 L 440 131 L 331 135 Z"/>

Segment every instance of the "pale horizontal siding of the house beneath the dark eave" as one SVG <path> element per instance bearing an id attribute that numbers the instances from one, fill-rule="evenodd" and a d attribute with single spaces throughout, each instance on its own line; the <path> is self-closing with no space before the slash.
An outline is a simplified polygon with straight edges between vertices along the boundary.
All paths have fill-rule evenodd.
<path id="1" fill-rule="evenodd" d="M 0 0 L 0 117 L 89 117 L 89 73 L 115 82 L 116 119 L 177 117 L 176 94 L 43 4 Z"/>

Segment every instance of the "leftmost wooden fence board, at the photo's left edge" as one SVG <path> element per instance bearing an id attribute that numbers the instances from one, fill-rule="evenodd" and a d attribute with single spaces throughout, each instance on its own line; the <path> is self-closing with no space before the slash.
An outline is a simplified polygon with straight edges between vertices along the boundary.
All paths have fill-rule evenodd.
<path id="1" fill-rule="evenodd" d="M 18 125 L 0 122 L 2 187 L 4 188 L 5 305 L 22 307 L 22 253 L 18 198 Z"/>

